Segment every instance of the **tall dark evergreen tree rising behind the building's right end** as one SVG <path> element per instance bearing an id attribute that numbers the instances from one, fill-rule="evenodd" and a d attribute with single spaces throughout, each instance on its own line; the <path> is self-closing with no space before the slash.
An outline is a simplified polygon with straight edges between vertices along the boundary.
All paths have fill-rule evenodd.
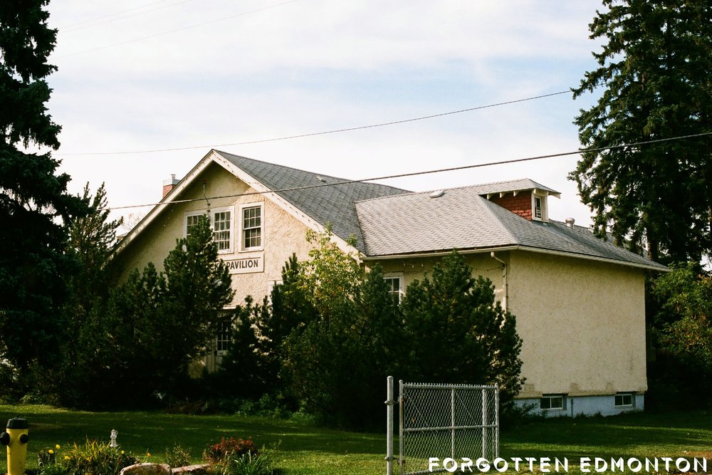
<path id="1" fill-rule="evenodd" d="M 712 250 L 712 4 L 708 0 L 603 0 L 591 38 L 598 67 L 577 98 L 599 86 L 597 103 L 575 123 L 582 154 L 575 179 L 617 244 L 649 249 L 652 259 L 700 261 Z M 607 148 L 614 147 L 614 148 Z M 664 259 L 664 260 L 665 260 Z"/>

